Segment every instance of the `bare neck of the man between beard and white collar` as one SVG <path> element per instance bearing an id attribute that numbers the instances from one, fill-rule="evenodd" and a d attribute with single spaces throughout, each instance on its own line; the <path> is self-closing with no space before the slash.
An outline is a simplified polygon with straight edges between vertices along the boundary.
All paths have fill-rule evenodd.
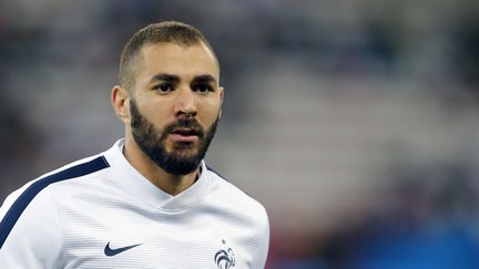
<path id="1" fill-rule="evenodd" d="M 123 154 L 140 174 L 157 188 L 173 196 L 192 186 L 200 176 L 200 166 L 186 175 L 179 176 L 166 173 L 145 155 L 131 137 L 126 137 Z"/>

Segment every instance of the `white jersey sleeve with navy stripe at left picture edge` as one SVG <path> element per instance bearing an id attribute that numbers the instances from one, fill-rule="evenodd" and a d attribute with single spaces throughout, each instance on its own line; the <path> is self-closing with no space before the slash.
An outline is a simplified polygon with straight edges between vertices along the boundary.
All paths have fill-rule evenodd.
<path id="1" fill-rule="evenodd" d="M 32 199 L 26 192 L 28 186 L 12 193 L 0 208 L 0 265 L 55 268 L 62 244 L 55 201 L 48 188 Z"/>

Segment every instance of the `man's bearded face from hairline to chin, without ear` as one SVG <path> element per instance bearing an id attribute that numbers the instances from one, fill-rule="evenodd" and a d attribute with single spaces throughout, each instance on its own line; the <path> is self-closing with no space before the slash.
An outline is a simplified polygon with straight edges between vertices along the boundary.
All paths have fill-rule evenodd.
<path id="1" fill-rule="evenodd" d="M 131 135 L 165 172 L 190 174 L 203 159 L 221 115 L 217 62 L 202 43 L 146 44 L 139 56 Z"/>

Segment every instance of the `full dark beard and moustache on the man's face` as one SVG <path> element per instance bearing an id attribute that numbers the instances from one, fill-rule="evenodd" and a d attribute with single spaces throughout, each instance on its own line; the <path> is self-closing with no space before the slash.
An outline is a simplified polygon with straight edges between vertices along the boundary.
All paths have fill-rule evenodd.
<path id="1" fill-rule="evenodd" d="M 163 170 L 176 176 L 191 174 L 198 167 L 220 121 L 217 116 L 212 126 L 205 131 L 195 118 L 184 117 L 167 124 L 162 131 L 156 131 L 153 123 L 140 113 L 134 101 L 130 101 L 130 114 L 132 135 L 142 152 Z M 169 152 L 166 139 L 176 128 L 192 130 L 198 137 L 197 146 L 196 143 L 174 142 Z"/>

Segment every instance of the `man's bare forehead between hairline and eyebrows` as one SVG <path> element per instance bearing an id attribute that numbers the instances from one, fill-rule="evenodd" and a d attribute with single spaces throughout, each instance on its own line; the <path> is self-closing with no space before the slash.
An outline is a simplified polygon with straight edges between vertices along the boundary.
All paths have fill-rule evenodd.
<path id="1" fill-rule="evenodd" d="M 144 79 L 166 73 L 180 77 L 210 74 L 218 80 L 220 66 L 216 58 L 201 42 L 188 46 L 174 43 L 145 44 L 140 55 L 142 69 L 139 76 Z"/>

